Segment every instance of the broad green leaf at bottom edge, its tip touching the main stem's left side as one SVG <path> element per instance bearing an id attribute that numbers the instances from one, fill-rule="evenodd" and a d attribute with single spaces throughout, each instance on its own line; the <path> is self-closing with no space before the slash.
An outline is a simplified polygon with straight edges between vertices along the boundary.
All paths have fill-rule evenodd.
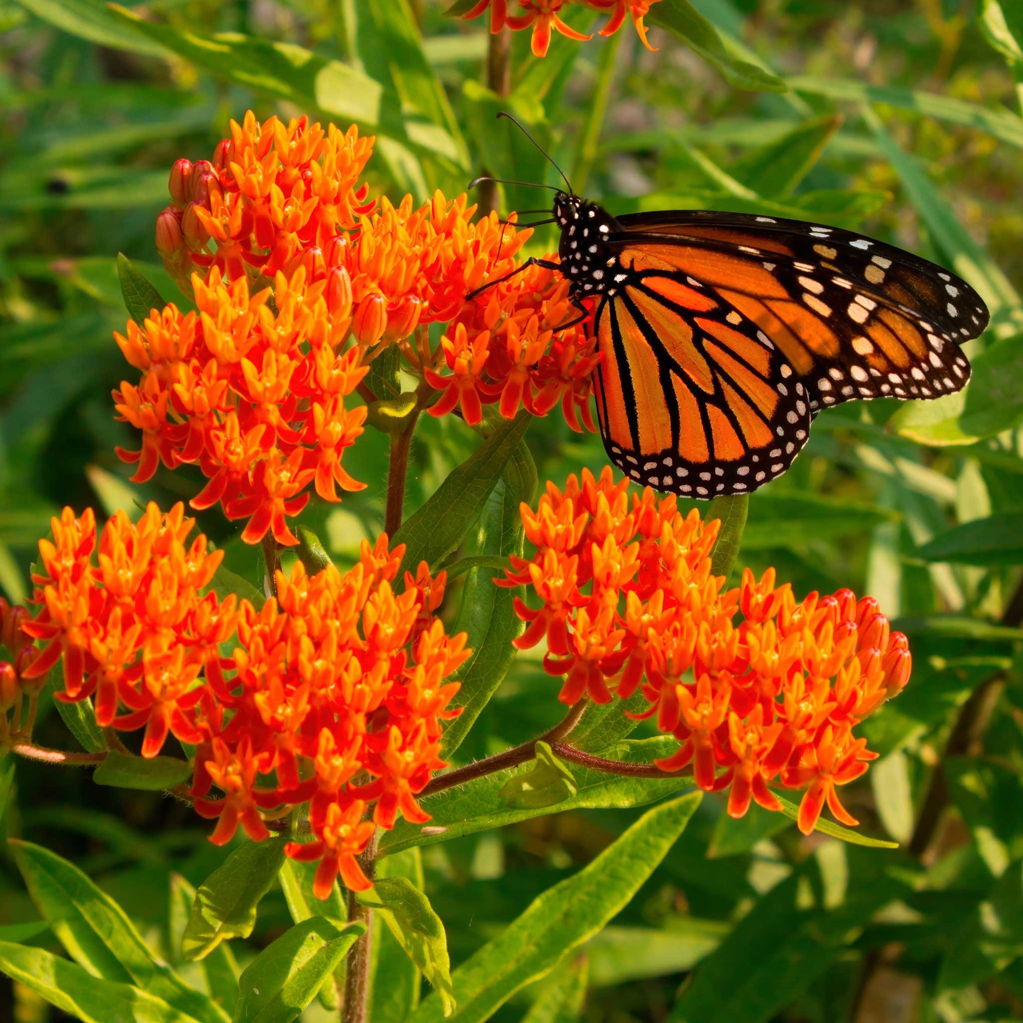
<path id="1" fill-rule="evenodd" d="M 242 971 L 233 1023 L 297 1020 L 365 929 L 312 917 L 285 931 Z"/>

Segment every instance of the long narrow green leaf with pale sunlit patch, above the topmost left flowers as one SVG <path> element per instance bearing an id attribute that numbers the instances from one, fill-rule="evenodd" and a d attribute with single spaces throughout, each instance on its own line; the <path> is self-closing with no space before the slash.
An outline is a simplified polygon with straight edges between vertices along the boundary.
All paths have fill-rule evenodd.
<path id="1" fill-rule="evenodd" d="M 320 110 L 346 125 L 354 121 L 360 134 L 398 139 L 460 166 L 458 146 L 443 128 L 413 117 L 394 93 L 340 60 L 293 43 L 236 32 L 209 36 L 177 32 L 118 4 L 109 9 L 145 39 L 220 78 L 287 100 L 310 114 Z"/>

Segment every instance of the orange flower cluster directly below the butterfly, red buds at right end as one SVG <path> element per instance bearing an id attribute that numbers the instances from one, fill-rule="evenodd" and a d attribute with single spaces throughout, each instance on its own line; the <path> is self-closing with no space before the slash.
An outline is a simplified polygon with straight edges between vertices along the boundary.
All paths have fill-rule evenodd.
<path id="1" fill-rule="evenodd" d="M 751 800 L 779 810 L 768 783 L 804 789 L 799 827 L 809 834 L 827 802 L 856 821 L 836 787 L 859 777 L 877 756 L 855 726 L 897 695 L 909 677 L 904 635 L 891 632 L 873 597 L 848 589 L 797 602 L 757 580 L 724 588 L 711 572 L 719 523 L 674 497 L 626 493 L 611 469 L 599 480 L 548 483 L 536 510 L 522 505 L 529 561 L 510 560 L 506 584 L 527 584 L 539 601 L 516 601 L 528 622 L 520 649 L 546 639 L 546 670 L 565 676 L 560 699 L 608 703 L 639 690 L 658 727 L 678 741 L 664 770 L 693 765 L 705 790 L 730 788 L 728 812 Z M 742 618 L 737 622 L 737 615 Z"/>

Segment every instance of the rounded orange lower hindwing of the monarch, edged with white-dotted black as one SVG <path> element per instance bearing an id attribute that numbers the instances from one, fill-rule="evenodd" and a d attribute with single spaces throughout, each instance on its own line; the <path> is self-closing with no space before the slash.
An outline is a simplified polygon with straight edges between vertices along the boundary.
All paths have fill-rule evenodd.
<path id="1" fill-rule="evenodd" d="M 597 416 L 632 479 L 683 496 L 748 493 L 806 443 L 810 397 L 755 324 L 709 290 L 647 271 L 598 307 Z"/>

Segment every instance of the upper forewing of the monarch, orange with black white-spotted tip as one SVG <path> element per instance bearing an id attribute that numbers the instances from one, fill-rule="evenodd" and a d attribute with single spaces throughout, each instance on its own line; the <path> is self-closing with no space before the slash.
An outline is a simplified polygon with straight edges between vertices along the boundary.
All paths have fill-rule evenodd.
<path id="1" fill-rule="evenodd" d="M 959 344 L 978 337 L 980 296 L 941 267 L 840 228 L 743 214 L 621 217 L 616 242 L 692 274 L 789 357 L 814 402 L 934 398 L 963 388 Z M 633 260 L 634 261 L 634 260 Z"/>

